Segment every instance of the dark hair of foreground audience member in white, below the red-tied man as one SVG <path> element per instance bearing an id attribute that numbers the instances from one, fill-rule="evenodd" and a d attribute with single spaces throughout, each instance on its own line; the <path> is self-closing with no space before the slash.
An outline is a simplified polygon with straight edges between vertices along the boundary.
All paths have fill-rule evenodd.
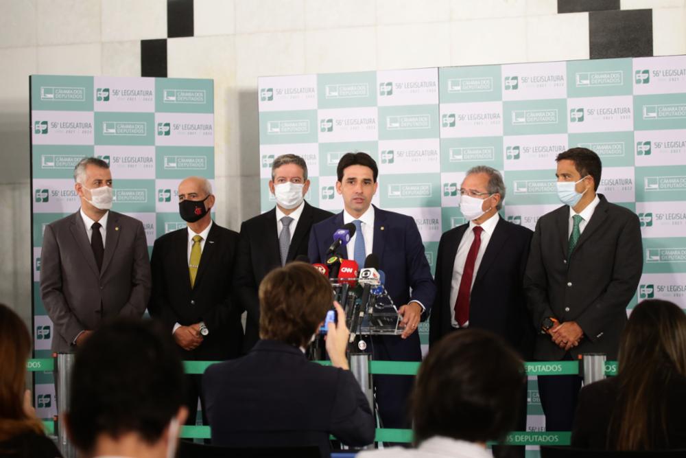
<path id="1" fill-rule="evenodd" d="M 414 440 L 436 435 L 469 442 L 512 431 L 526 380 L 519 356 L 495 334 L 454 332 L 431 348 L 412 393 Z"/>

